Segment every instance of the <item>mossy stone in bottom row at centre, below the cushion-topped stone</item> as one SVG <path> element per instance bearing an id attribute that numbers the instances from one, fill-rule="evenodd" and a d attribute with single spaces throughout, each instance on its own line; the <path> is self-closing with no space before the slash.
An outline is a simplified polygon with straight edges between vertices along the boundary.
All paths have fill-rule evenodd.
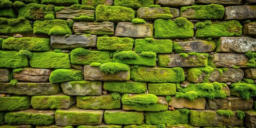
<path id="1" fill-rule="evenodd" d="M 137 111 L 125 111 L 122 109 L 116 110 L 105 110 L 104 121 L 106 124 L 139 124 L 141 125 L 144 121 L 144 115 L 142 112 Z"/>

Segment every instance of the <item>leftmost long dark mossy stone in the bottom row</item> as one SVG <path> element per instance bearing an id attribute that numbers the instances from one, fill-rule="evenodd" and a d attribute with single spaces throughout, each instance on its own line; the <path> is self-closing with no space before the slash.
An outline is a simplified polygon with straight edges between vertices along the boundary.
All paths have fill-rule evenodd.
<path id="1" fill-rule="evenodd" d="M 54 123 L 54 115 L 55 110 L 35 110 L 31 108 L 6 113 L 5 122 L 9 125 L 51 125 Z"/>

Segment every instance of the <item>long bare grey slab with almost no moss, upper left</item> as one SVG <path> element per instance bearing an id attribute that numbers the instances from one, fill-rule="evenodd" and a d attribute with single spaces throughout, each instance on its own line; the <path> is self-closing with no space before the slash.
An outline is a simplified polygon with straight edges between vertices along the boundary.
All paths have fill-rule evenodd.
<path id="1" fill-rule="evenodd" d="M 75 49 L 78 47 L 96 47 L 96 35 L 52 35 L 52 49 Z"/>

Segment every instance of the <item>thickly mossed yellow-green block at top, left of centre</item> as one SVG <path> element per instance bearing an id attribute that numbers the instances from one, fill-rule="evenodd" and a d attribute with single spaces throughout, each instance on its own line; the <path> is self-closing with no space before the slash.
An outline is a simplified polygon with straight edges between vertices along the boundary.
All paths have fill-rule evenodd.
<path id="1" fill-rule="evenodd" d="M 99 5 L 95 10 L 96 21 L 121 22 L 131 21 L 134 19 L 135 12 L 122 6 Z"/>

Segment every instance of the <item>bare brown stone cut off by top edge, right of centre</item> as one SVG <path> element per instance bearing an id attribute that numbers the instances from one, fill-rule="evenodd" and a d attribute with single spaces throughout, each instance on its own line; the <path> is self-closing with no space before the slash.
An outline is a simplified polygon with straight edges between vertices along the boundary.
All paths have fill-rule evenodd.
<path id="1" fill-rule="evenodd" d="M 195 3 L 195 0 L 188 0 L 188 1 L 183 1 L 183 0 L 157 0 L 156 4 L 162 5 L 162 6 L 188 6 L 192 5 Z"/>

